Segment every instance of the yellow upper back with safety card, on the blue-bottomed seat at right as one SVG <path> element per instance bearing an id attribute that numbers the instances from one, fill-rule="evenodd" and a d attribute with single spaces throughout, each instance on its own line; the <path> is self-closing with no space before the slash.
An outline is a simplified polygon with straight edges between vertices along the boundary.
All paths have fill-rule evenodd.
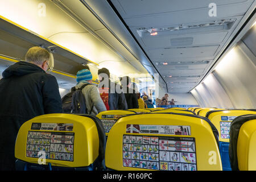
<path id="1" fill-rule="evenodd" d="M 256 114 L 256 111 L 249 110 L 212 110 L 207 113 L 208 119 L 213 123 L 219 133 L 220 142 L 229 142 L 230 124 L 234 118 L 245 115 Z"/>

